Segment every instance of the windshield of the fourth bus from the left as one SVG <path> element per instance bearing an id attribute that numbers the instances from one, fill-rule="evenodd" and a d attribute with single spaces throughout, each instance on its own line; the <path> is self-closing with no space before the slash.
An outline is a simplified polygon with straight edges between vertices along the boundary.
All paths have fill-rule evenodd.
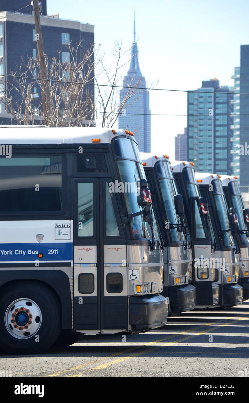
<path id="1" fill-rule="evenodd" d="M 227 211 L 227 206 L 225 202 L 225 197 L 222 189 L 222 183 L 221 181 L 213 181 L 213 191 L 214 191 L 214 201 L 215 201 L 215 206 L 216 210 L 218 212 L 218 219 L 220 222 L 220 229 L 221 231 L 226 231 L 230 229 L 229 221 L 228 221 L 228 211 Z M 231 235 L 231 232 L 225 232 L 223 233 L 223 239 L 224 239 L 224 246 L 235 246 L 235 243 L 233 241 L 233 237 Z"/>

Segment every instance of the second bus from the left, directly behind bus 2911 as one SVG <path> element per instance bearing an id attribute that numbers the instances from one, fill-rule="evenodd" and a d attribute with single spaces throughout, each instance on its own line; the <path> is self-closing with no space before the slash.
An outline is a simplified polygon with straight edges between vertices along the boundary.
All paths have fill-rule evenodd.
<path id="1" fill-rule="evenodd" d="M 177 194 L 169 157 L 140 153 L 151 191 L 152 204 L 162 234 L 163 295 L 169 297 L 171 315 L 194 309 L 192 251 L 188 239 L 183 199 Z"/>

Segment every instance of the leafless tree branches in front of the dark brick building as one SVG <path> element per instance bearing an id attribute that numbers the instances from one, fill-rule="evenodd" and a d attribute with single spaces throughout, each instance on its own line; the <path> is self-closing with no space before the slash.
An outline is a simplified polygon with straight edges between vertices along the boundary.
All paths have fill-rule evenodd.
<path id="1" fill-rule="evenodd" d="M 76 48 L 68 46 L 67 58 L 64 61 L 60 52 L 58 58 L 54 57 L 50 62 L 45 56 L 48 77 L 46 118 L 50 127 L 94 125 L 93 83 L 97 61 L 94 58 L 94 46 L 79 60 L 81 42 Z M 4 103 L 11 117 L 18 124 L 44 123 L 42 100 L 37 102 L 32 90 L 37 86 L 43 90 L 44 80 L 40 75 L 38 60 L 29 58 L 25 63 L 22 59 L 19 71 L 11 71 L 9 76 L 9 89 L 6 91 Z"/>

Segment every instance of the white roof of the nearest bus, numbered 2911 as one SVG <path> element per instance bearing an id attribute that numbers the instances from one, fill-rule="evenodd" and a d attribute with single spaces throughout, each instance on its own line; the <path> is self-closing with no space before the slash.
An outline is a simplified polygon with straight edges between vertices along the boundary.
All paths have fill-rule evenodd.
<path id="1" fill-rule="evenodd" d="M 95 143 L 93 139 L 111 143 L 115 135 L 126 135 L 126 132 L 104 127 L 0 126 L 0 144 L 90 144 Z"/>

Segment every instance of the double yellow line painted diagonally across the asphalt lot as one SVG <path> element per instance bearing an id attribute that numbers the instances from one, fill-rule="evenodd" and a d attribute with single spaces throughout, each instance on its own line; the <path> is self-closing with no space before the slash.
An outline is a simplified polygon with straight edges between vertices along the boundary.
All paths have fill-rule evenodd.
<path id="1" fill-rule="evenodd" d="M 248 313 L 248 314 L 249 314 L 249 313 Z M 245 315 L 245 314 L 243 314 L 243 315 Z M 210 325 L 213 325 L 213 324 L 220 323 L 220 322 L 222 322 L 222 320 L 233 320 L 233 319 L 237 319 L 237 317 L 232 317 L 232 318 L 227 317 L 227 318 L 223 318 L 223 319 L 221 319 L 221 320 L 219 320 L 219 321 L 217 321 L 217 322 L 211 322 L 211 323 L 206 324 L 206 325 L 210 326 Z M 248 319 L 248 318 L 243 318 L 243 319 Z M 237 320 L 234 321 L 233 323 L 236 323 L 236 322 L 239 322 L 239 320 L 237 319 Z M 227 325 L 228 325 L 228 324 L 224 324 L 224 326 L 227 326 Z M 75 370 L 80 370 L 80 369 L 85 368 L 85 367 L 87 367 L 87 366 L 89 366 L 89 365 L 97 364 L 97 363 L 99 363 L 99 362 L 105 361 L 106 359 L 110 359 L 111 357 L 116 357 L 117 355 L 120 355 L 120 354 L 129 353 L 130 351 L 134 351 L 134 350 L 137 350 L 137 349 L 141 349 L 142 347 L 148 347 L 148 346 L 150 346 L 150 345 L 154 345 L 154 344 L 160 343 L 160 342 L 162 342 L 162 341 L 171 339 L 171 338 L 173 338 L 173 337 L 177 337 L 177 336 L 181 336 L 181 335 L 183 335 L 183 334 L 189 333 L 189 332 L 193 332 L 193 331 L 195 331 L 195 330 L 197 330 L 197 329 L 199 329 L 200 327 L 203 327 L 203 326 L 204 326 L 203 324 L 202 324 L 202 325 L 198 325 L 198 326 L 195 327 L 195 328 L 187 329 L 187 330 L 185 330 L 185 331 L 183 331 L 183 332 L 179 332 L 179 333 L 177 333 L 177 334 L 171 334 L 170 336 L 163 337 L 162 339 L 158 339 L 158 340 L 155 340 L 155 341 L 151 341 L 151 342 L 149 342 L 149 343 L 144 344 L 143 346 L 139 345 L 139 346 L 136 346 L 136 347 L 132 347 L 132 348 L 130 348 L 130 349 L 126 349 L 126 350 L 123 350 L 123 351 L 119 351 L 118 353 L 109 355 L 108 357 L 102 357 L 102 358 L 100 358 L 100 359 L 96 359 L 96 360 L 94 360 L 94 361 L 86 362 L 86 363 L 84 363 L 84 364 L 81 364 L 81 365 L 78 365 L 78 366 L 75 366 L 75 367 L 72 367 L 72 368 L 69 368 L 69 369 L 66 369 L 66 370 L 58 371 L 58 372 L 55 372 L 54 374 L 46 375 L 46 377 L 59 376 L 59 375 L 62 375 L 62 374 L 66 374 L 67 372 L 72 372 L 72 371 L 75 371 Z M 216 328 L 219 328 L 220 326 L 222 326 L 222 324 L 218 325 L 217 327 L 204 330 L 203 332 L 200 332 L 200 333 L 197 333 L 197 334 L 188 336 L 187 338 L 184 338 L 184 339 L 181 339 L 181 340 L 172 342 L 172 343 L 167 343 L 166 345 L 171 345 L 171 344 L 179 343 L 179 342 L 184 341 L 184 340 L 187 340 L 187 339 L 189 339 L 189 338 L 191 338 L 191 337 L 196 337 L 196 336 L 199 336 L 199 335 L 201 335 L 201 334 L 205 334 L 206 332 L 208 332 L 208 331 L 210 331 L 210 330 L 214 330 L 214 329 L 216 329 Z M 160 347 L 159 347 L 159 346 L 156 346 L 156 347 L 153 347 L 152 349 L 147 350 L 147 351 L 145 351 L 145 352 L 140 351 L 139 353 L 135 353 L 135 354 L 129 355 L 129 356 L 127 356 L 127 357 L 122 357 L 122 358 L 119 358 L 119 359 L 117 359 L 117 360 L 109 361 L 108 363 L 102 364 L 102 365 L 97 366 L 97 367 L 95 367 L 95 368 L 88 369 L 88 371 L 90 371 L 90 370 L 95 370 L 95 369 L 101 369 L 101 368 L 107 368 L 107 367 L 105 367 L 105 365 L 111 366 L 111 365 L 113 365 L 113 364 L 115 364 L 115 363 L 117 363 L 117 362 L 126 361 L 127 359 L 130 359 L 130 358 L 133 358 L 133 357 L 137 357 L 138 355 L 143 355 L 143 354 L 148 353 L 148 352 L 150 352 L 150 351 L 153 351 L 153 350 L 155 350 L 155 349 L 157 349 L 157 348 L 160 348 Z M 72 375 L 72 376 L 78 376 L 78 375 Z M 80 376 L 81 376 L 81 375 L 80 375 Z"/>

